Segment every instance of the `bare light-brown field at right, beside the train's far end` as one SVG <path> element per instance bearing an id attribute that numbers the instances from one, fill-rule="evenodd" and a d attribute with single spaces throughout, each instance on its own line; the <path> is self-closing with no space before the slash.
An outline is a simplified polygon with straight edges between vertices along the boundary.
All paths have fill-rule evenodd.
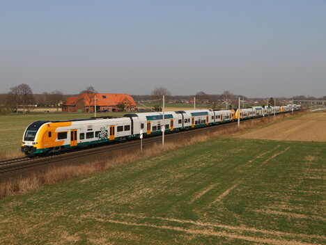
<path id="1" fill-rule="evenodd" d="M 238 134 L 235 137 L 274 141 L 326 142 L 326 112 L 305 114 L 304 116 L 277 122 L 261 129 Z"/>

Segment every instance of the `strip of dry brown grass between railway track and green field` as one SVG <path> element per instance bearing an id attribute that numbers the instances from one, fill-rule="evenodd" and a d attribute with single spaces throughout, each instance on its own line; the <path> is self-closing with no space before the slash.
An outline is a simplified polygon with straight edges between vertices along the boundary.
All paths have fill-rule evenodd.
<path id="1" fill-rule="evenodd" d="M 70 166 L 51 166 L 43 173 L 31 173 L 29 176 L 18 177 L 14 180 L 6 180 L 0 182 L 0 198 L 6 198 L 17 194 L 28 193 L 36 191 L 42 187 L 56 184 L 58 182 L 71 179 L 73 177 L 83 177 L 91 173 L 100 173 L 108 168 L 116 168 L 123 164 L 127 164 L 136 159 L 146 159 L 153 157 L 162 152 L 174 150 L 177 148 L 184 147 L 186 145 L 194 145 L 208 141 L 216 136 L 222 136 L 226 134 L 235 134 L 247 129 L 259 127 L 270 122 L 281 120 L 291 116 L 290 114 L 282 114 L 274 118 L 273 116 L 262 118 L 262 120 L 248 120 L 244 125 L 237 127 L 236 125 L 229 125 L 222 129 L 217 129 L 214 133 L 201 134 L 200 136 L 180 136 L 178 141 L 165 143 L 164 147 L 161 144 L 153 144 L 150 148 L 146 148 L 141 153 L 132 152 L 125 154 L 125 152 L 117 152 L 114 159 L 109 161 L 93 161 L 83 165 L 70 165 Z"/>

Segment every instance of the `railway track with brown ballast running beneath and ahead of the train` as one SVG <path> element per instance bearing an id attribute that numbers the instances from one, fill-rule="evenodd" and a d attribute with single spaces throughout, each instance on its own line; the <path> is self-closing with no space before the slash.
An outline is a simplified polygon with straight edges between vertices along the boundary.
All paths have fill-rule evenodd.
<path id="1" fill-rule="evenodd" d="M 253 120 L 263 120 L 263 118 L 255 118 Z M 250 120 L 249 120 L 250 121 Z M 244 124 L 248 120 L 242 120 L 240 123 Z M 166 141 L 172 141 L 178 139 L 180 136 L 194 136 L 195 134 L 203 134 L 203 132 L 214 132 L 217 129 L 225 127 L 236 127 L 238 122 L 231 122 L 222 125 L 214 125 L 211 127 L 202 127 L 194 130 L 176 132 L 173 134 L 166 134 Z M 143 139 L 143 146 L 153 145 L 153 143 L 162 142 L 162 135 L 150 136 Z M 139 147 L 139 148 L 137 148 Z M 130 150 L 132 148 L 140 149 L 140 141 L 124 141 L 123 143 L 110 143 L 104 145 L 96 145 L 91 148 L 79 148 L 77 150 L 70 150 L 61 152 L 57 155 L 49 155 L 47 157 L 18 157 L 14 159 L 6 159 L 0 161 L 0 176 L 8 175 L 18 171 L 30 171 L 33 168 L 40 166 L 49 166 L 52 164 L 58 164 L 66 161 L 73 161 L 76 159 L 86 159 L 86 157 L 93 157 L 93 160 L 102 155 L 102 153 L 114 152 L 116 150 Z"/>

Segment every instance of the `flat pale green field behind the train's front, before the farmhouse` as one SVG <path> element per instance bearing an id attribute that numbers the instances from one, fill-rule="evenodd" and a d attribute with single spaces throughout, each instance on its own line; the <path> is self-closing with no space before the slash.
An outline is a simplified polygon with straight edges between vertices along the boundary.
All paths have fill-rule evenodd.
<path id="1" fill-rule="evenodd" d="M 123 116 L 125 112 L 97 113 L 96 116 Z M 0 159 L 22 154 L 20 145 L 26 127 L 38 120 L 91 118 L 94 113 L 28 113 L 0 115 Z"/>

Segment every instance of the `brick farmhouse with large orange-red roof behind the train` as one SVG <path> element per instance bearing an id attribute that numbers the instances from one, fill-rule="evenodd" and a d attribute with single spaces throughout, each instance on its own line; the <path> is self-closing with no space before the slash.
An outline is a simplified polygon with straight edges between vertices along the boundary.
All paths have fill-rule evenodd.
<path id="1" fill-rule="evenodd" d="M 125 111 L 134 111 L 136 102 L 125 93 L 96 93 L 96 111 L 118 111 L 118 104 L 125 105 Z M 77 97 L 68 97 L 62 104 L 63 112 L 94 112 L 95 101 L 83 93 Z"/>

